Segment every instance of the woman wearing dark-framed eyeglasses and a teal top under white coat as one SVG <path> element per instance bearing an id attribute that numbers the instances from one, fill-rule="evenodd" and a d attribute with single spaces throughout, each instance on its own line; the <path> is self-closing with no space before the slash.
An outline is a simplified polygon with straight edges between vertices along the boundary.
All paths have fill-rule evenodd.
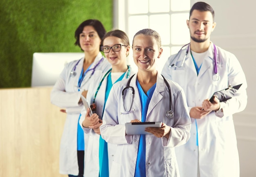
<path id="1" fill-rule="evenodd" d="M 115 157 L 115 144 L 108 144 L 101 138 L 99 127 L 102 124 L 105 103 L 112 85 L 118 81 L 127 79 L 134 74 L 127 65 L 126 57 L 129 55 L 130 44 L 126 33 L 113 30 L 103 37 L 101 50 L 112 68 L 102 74 L 90 85 L 87 99 L 91 103 L 94 114 L 89 116 L 89 111 L 81 111 L 80 125 L 85 136 L 88 136 L 86 144 L 85 174 L 90 177 L 108 177 L 113 158 Z"/>

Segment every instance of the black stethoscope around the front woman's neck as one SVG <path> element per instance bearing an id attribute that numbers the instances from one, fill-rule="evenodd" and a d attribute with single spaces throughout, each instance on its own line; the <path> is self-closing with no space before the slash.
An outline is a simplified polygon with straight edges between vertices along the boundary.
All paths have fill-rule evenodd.
<path id="1" fill-rule="evenodd" d="M 162 74 L 161 74 L 162 75 Z M 134 99 L 134 88 L 132 86 L 130 86 L 130 81 L 132 80 L 132 77 L 135 76 L 135 74 L 133 74 L 130 79 L 128 80 L 128 83 L 126 85 L 126 87 L 122 90 L 122 98 L 123 98 L 123 104 L 124 104 L 124 93 L 126 90 L 132 90 L 132 102 L 131 102 L 131 105 L 130 105 L 130 108 L 129 110 L 126 109 L 125 105 L 124 105 L 124 111 L 126 111 L 125 113 L 121 113 L 121 114 L 128 114 L 132 111 L 135 111 L 135 109 L 132 109 L 132 105 L 133 105 L 133 99 Z M 162 75 L 162 77 L 164 78 L 164 76 Z M 165 115 L 167 118 L 173 118 L 174 116 L 174 113 L 173 111 L 171 110 L 171 103 L 172 103 L 172 100 L 171 100 L 171 87 L 170 85 L 168 84 L 168 82 L 166 81 L 166 79 L 164 78 L 164 82 L 165 84 L 167 85 L 168 87 L 168 91 L 169 91 L 169 100 L 170 100 L 170 109 L 168 111 L 166 111 Z"/>

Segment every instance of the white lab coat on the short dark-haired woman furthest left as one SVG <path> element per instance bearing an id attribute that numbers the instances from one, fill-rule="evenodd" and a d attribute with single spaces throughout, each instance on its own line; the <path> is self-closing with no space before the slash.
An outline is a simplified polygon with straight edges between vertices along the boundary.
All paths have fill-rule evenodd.
<path id="1" fill-rule="evenodd" d="M 91 68 L 93 68 L 102 57 L 101 52 L 99 52 Z M 92 76 L 92 70 L 88 71 L 81 83 L 81 89 L 78 91 L 77 85 L 83 68 L 83 61 L 84 59 L 82 58 L 76 66 L 76 76 L 70 76 L 70 72 L 74 69 L 78 60 L 67 63 L 51 92 L 51 103 L 58 107 L 65 108 L 67 112 L 60 146 L 59 172 L 61 174 L 78 175 L 79 173 L 77 162 L 77 125 L 81 109 L 83 108 L 83 104 L 78 103 L 81 93 L 84 90 L 88 90 L 94 78 L 97 78 L 102 72 L 106 72 L 111 67 L 110 63 L 104 58 L 99 66 L 97 66 Z"/>

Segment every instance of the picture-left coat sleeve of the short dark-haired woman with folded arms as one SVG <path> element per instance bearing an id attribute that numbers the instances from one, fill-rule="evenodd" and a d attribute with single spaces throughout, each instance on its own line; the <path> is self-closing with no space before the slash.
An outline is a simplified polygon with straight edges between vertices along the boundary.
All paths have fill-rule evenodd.
<path id="1" fill-rule="evenodd" d="M 51 103 L 63 108 L 77 107 L 81 105 L 81 103 L 79 103 L 79 100 L 83 92 L 83 90 L 79 92 L 66 92 L 65 85 L 68 67 L 69 65 L 67 64 L 61 72 L 51 92 Z"/>

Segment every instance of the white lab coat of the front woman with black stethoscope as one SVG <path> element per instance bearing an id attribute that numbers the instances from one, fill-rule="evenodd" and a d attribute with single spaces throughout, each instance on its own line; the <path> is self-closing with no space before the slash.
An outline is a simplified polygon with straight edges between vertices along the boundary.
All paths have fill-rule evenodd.
<path id="1" fill-rule="evenodd" d="M 131 120 L 141 120 L 141 101 L 136 86 L 137 74 L 132 78 L 130 86 L 135 90 L 132 112 L 125 113 L 122 99 L 122 90 L 126 87 L 128 79 L 113 85 L 106 103 L 103 115 L 103 124 L 100 127 L 101 136 L 108 143 L 117 144 L 111 177 L 133 177 L 137 160 L 139 135 L 126 135 L 125 123 Z M 168 87 L 164 79 L 157 74 L 157 85 L 148 106 L 146 122 L 161 121 L 171 127 L 170 138 L 157 138 L 146 135 L 146 176 L 148 177 L 179 177 L 174 148 L 186 143 L 189 139 L 191 120 L 186 105 L 186 98 L 182 88 L 169 81 L 172 96 L 172 110 L 174 118 L 167 118 L 166 111 L 170 109 Z M 125 105 L 132 94 L 125 96 Z"/>

